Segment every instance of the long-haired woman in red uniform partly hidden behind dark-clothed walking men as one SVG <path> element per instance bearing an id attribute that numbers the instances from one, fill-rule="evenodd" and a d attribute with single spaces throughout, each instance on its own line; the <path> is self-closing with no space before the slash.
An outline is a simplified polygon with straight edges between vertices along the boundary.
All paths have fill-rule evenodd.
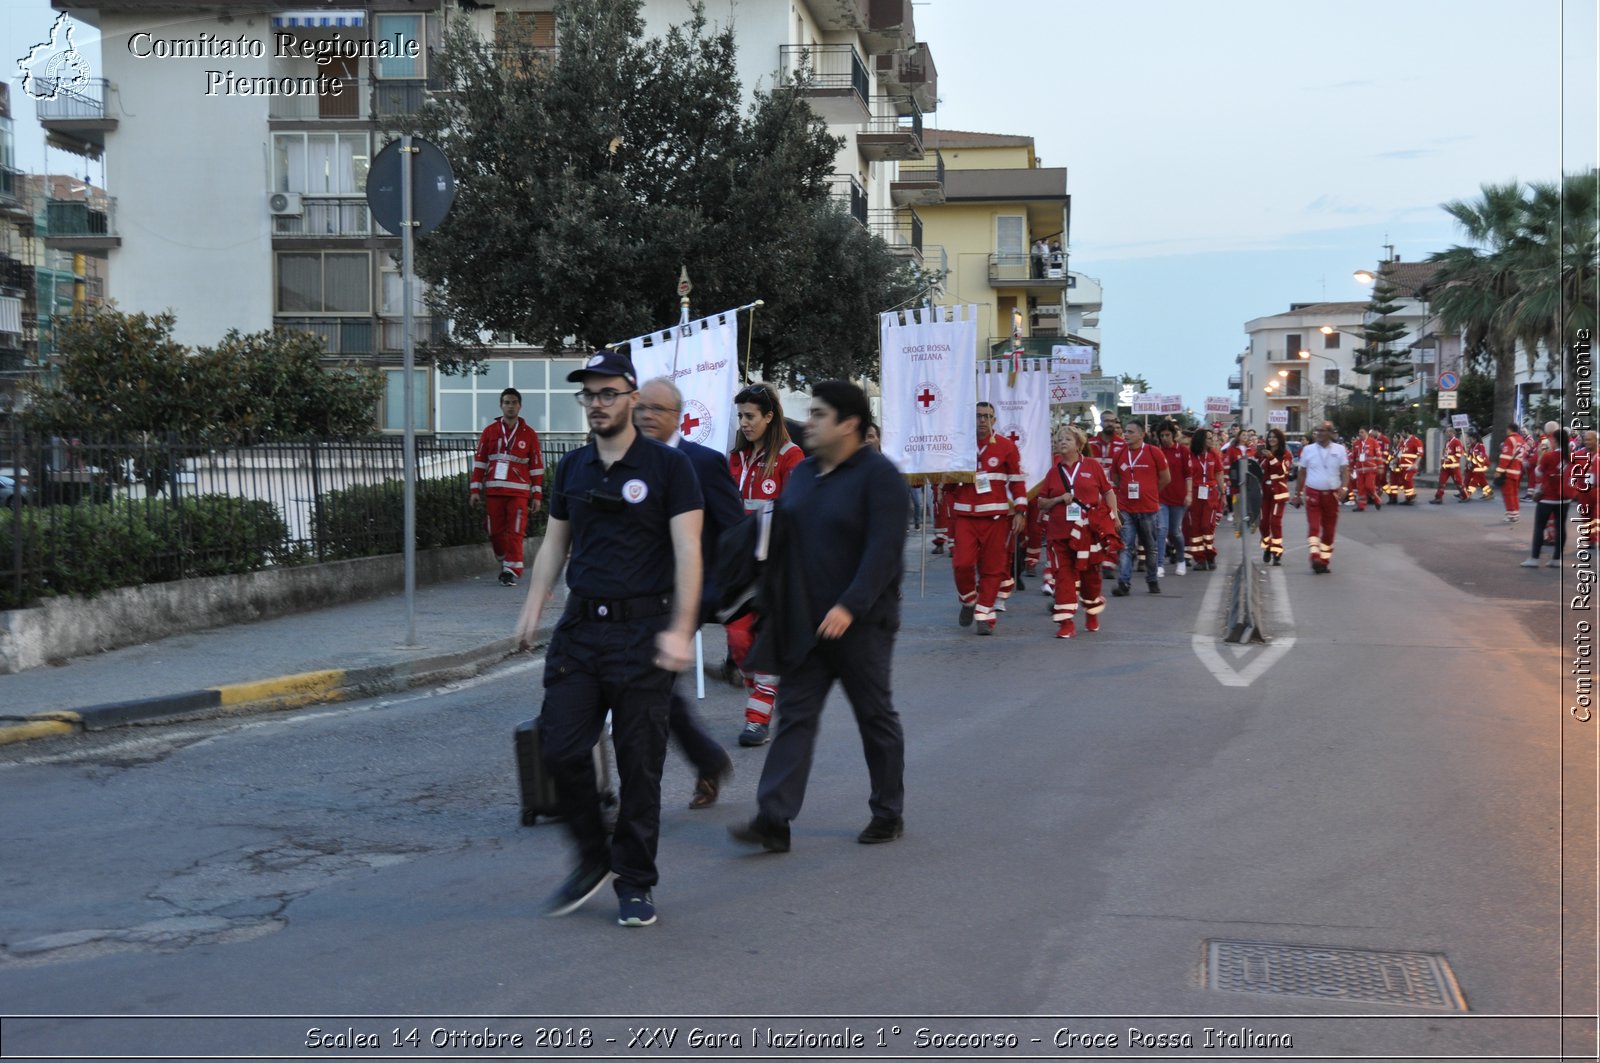
<path id="1" fill-rule="evenodd" d="M 805 459 L 805 455 L 789 440 L 784 426 L 784 407 L 778 391 L 770 384 L 750 384 L 733 397 L 739 415 L 739 443 L 728 455 L 728 471 L 739 485 L 744 512 L 760 512 L 784 493 L 789 474 Z M 755 615 L 746 613 L 728 624 L 728 655 L 744 676 L 744 730 L 741 746 L 766 743 L 773 722 L 773 703 L 778 700 L 778 676 L 752 672 L 744 668 L 744 658 L 755 642 Z"/>

